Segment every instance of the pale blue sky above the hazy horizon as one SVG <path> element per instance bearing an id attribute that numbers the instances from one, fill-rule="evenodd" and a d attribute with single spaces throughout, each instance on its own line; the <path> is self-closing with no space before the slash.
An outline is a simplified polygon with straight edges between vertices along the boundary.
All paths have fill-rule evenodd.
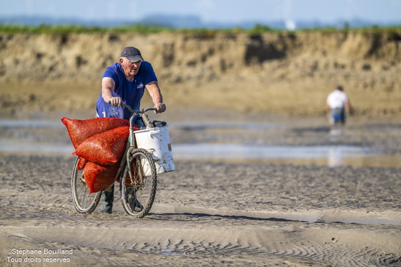
<path id="1" fill-rule="evenodd" d="M 352 18 L 401 22 L 401 0 L 0 0 L 0 18 L 44 15 L 83 20 L 140 20 L 155 14 L 195 15 L 204 22 Z M 400 23 L 401 24 L 401 23 Z"/>

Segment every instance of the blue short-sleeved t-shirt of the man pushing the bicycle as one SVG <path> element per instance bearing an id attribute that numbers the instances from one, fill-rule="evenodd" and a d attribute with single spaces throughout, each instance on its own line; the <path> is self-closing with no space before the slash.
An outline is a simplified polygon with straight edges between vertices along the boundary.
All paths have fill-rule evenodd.
<path id="1" fill-rule="evenodd" d="M 108 67 L 103 74 L 103 78 L 109 77 L 114 80 L 115 87 L 113 96 L 121 97 L 125 104 L 132 109 L 139 109 L 141 99 L 145 91 L 145 86 L 150 82 L 157 81 L 152 65 L 147 61 L 142 61 L 138 73 L 132 82 L 125 77 L 123 67 L 120 63 L 115 63 Z M 115 107 L 106 103 L 100 92 L 96 103 L 97 117 L 112 117 L 129 120 L 132 113 L 126 107 Z M 135 122 L 135 120 L 134 120 Z"/>

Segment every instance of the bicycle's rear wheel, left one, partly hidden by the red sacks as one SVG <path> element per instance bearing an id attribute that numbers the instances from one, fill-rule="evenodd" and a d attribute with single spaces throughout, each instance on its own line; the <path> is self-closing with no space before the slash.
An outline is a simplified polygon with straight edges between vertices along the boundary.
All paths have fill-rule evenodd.
<path id="1" fill-rule="evenodd" d="M 74 203 L 75 209 L 79 213 L 91 213 L 93 212 L 100 201 L 102 191 L 89 194 L 90 190 L 84 179 L 84 170 L 78 170 L 77 157 L 72 168 L 71 176 L 71 196 L 72 202 Z"/>

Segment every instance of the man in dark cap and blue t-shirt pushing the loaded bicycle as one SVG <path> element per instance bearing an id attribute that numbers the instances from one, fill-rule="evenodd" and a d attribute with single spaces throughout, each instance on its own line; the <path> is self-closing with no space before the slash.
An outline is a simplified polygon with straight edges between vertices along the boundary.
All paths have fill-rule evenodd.
<path id="1" fill-rule="evenodd" d="M 161 91 L 152 65 L 144 61 L 141 52 L 135 47 L 126 47 L 121 52 L 119 62 L 108 67 L 102 79 L 102 91 L 96 103 L 96 117 L 112 117 L 130 120 L 132 113 L 122 104 L 140 109 L 145 88 L 152 97 L 156 112 L 166 111 Z M 109 104 L 110 102 L 110 104 Z M 143 122 L 137 115 L 133 122 L 141 128 Z M 102 193 L 102 212 L 111 213 L 114 201 L 114 184 L 111 190 Z M 135 199 L 135 210 L 142 209 Z"/>

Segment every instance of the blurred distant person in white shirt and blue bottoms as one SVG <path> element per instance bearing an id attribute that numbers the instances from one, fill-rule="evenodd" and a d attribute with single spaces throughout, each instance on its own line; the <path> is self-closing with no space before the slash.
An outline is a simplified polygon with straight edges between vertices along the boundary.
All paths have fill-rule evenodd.
<path id="1" fill-rule="evenodd" d="M 352 106 L 348 96 L 344 93 L 344 88 L 341 85 L 336 87 L 336 90 L 331 92 L 327 97 L 327 107 L 331 110 L 330 124 L 345 124 L 345 108 L 349 113 L 352 112 Z"/>

